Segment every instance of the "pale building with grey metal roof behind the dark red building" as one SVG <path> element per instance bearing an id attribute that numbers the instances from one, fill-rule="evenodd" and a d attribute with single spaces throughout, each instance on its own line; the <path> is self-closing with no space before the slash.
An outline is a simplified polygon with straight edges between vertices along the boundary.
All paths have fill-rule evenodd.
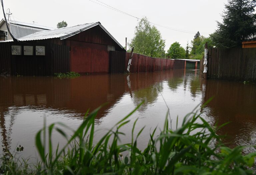
<path id="1" fill-rule="evenodd" d="M 30 35 L 35 32 L 55 29 L 51 27 L 40 26 L 36 24 L 29 24 L 29 23 L 24 23 L 19 21 L 12 21 L 12 20 L 7 20 L 7 24 L 12 35 L 16 39 Z M 2 19 L 0 22 L 0 41 L 11 40 L 11 39 L 12 37 L 10 36 L 6 27 L 6 21 Z"/>

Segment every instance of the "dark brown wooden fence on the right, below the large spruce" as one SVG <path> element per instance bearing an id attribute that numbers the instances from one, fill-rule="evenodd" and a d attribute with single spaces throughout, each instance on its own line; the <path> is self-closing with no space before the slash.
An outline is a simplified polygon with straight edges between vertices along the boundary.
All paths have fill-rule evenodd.
<path id="1" fill-rule="evenodd" d="M 210 48 L 208 51 L 208 79 L 256 82 L 256 48 Z M 201 64 L 200 69 L 202 72 Z"/>

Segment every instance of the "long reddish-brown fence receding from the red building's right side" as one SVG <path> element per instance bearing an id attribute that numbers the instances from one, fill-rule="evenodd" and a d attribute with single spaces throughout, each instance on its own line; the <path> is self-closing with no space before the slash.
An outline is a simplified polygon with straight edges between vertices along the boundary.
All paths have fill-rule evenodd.
<path id="1" fill-rule="evenodd" d="M 124 73 L 131 53 L 110 51 L 109 53 L 109 73 Z M 170 69 L 184 69 L 185 60 L 174 60 L 165 58 L 152 58 L 145 55 L 133 54 L 130 72 L 154 72 Z"/>

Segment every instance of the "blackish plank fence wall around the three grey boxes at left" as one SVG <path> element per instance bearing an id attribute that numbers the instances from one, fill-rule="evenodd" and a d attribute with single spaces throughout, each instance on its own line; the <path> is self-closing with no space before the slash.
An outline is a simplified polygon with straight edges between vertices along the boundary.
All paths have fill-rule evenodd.
<path id="1" fill-rule="evenodd" d="M 22 55 L 12 55 L 11 45 L 20 43 L 0 43 L 0 74 L 24 76 L 49 76 L 54 73 L 70 72 L 70 47 L 50 43 L 22 44 Z M 23 46 L 34 46 L 34 54 L 26 56 Z M 45 56 L 35 55 L 35 46 L 45 46 Z"/>

